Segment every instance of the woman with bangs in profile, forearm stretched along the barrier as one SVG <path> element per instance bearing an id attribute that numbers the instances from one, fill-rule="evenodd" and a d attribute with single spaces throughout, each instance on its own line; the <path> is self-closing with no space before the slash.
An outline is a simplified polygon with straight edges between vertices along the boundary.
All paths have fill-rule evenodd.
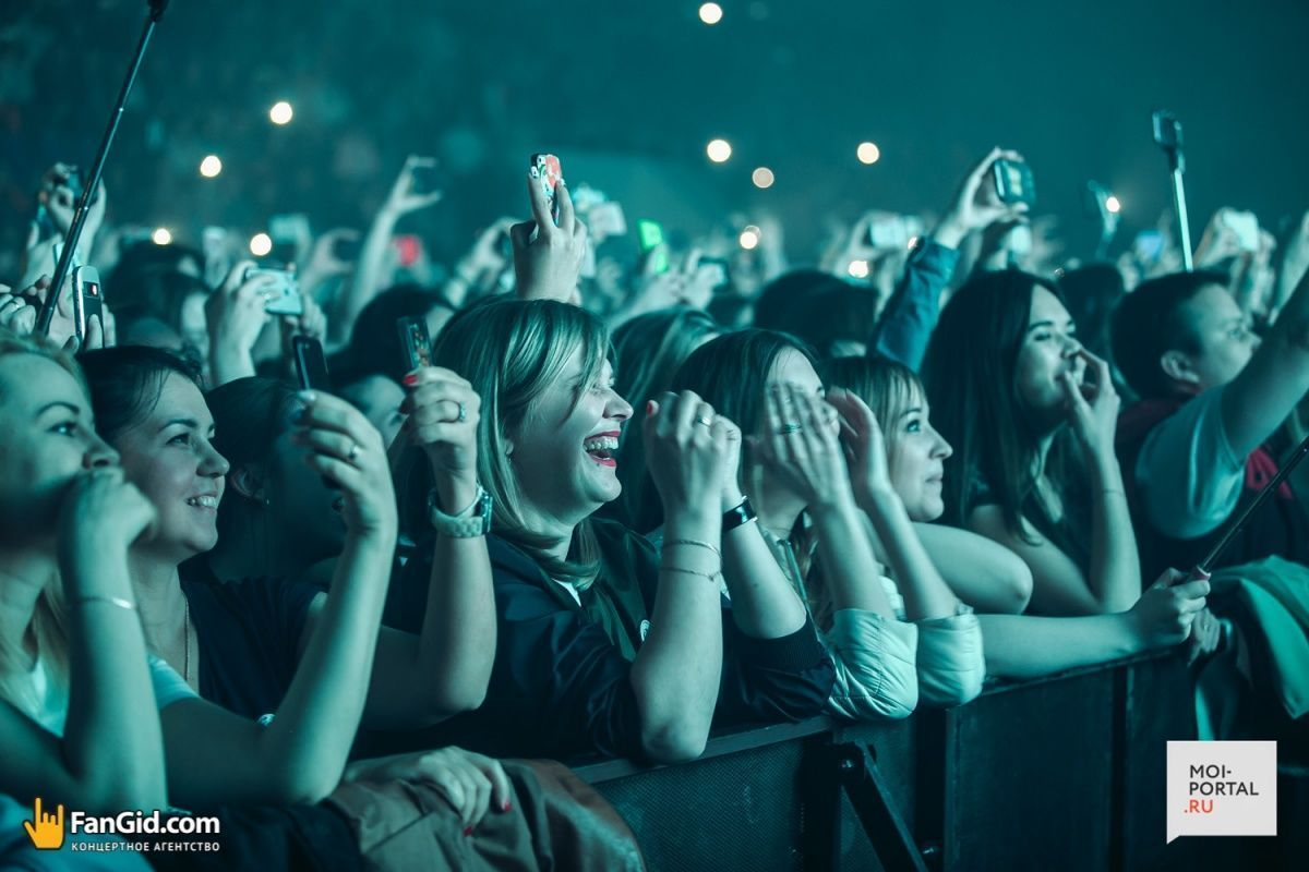
<path id="1" fill-rule="evenodd" d="M 876 420 L 884 422 L 886 477 L 950 586 L 961 590 L 961 582 L 970 579 L 984 590 L 991 579 L 1003 580 L 1021 571 L 1030 591 L 1031 574 L 1013 552 L 977 533 L 929 523 L 944 512 L 941 461 L 949 458 L 950 446 L 932 428 L 918 375 L 901 363 L 870 358 L 835 361 L 827 371 L 831 384 L 864 399 Z M 1173 573 L 1165 582 L 1179 578 Z M 1186 638 L 1191 616 L 1204 605 L 1207 584 L 1168 583 L 1151 587 L 1130 611 L 1114 614 L 979 613 L 987 673 L 1030 679 L 1177 645 Z"/>

